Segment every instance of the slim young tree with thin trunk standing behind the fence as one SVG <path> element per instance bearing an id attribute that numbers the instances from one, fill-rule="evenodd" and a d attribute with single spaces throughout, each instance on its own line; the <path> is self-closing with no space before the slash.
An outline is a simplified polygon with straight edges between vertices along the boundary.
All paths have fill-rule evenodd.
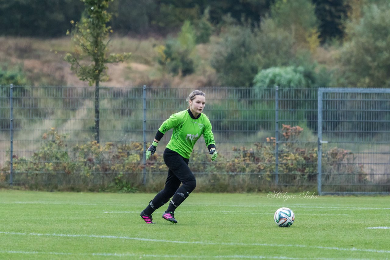
<path id="1" fill-rule="evenodd" d="M 67 53 L 65 60 L 71 64 L 80 80 L 95 84 L 95 140 L 99 143 L 99 82 L 108 80 L 108 63 L 123 62 L 131 53 L 108 55 L 108 36 L 112 33 L 106 23 L 111 14 L 106 10 L 113 0 L 81 0 L 85 4 L 85 16 L 74 25 L 70 34 L 75 43 L 74 53 Z"/>

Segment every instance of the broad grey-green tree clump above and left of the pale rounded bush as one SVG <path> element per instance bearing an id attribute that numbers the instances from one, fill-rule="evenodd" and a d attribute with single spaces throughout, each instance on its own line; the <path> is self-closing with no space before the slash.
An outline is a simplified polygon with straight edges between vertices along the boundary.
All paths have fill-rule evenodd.
<path id="1" fill-rule="evenodd" d="M 260 27 L 230 26 L 215 45 L 211 65 L 222 84 L 251 87 L 259 70 L 290 65 L 293 46 L 292 35 L 269 18 Z"/>

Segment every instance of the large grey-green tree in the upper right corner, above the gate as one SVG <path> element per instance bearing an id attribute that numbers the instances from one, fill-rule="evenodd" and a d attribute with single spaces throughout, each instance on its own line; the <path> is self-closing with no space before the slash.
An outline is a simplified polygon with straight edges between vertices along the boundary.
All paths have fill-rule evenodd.
<path id="1" fill-rule="evenodd" d="M 337 83 L 346 87 L 390 87 L 390 2 L 368 4 L 362 14 L 357 23 L 347 23 Z"/>

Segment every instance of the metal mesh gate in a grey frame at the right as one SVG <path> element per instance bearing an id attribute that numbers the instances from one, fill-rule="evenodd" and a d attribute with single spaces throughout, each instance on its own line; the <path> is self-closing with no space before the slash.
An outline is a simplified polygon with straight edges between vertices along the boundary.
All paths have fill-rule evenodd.
<path id="1" fill-rule="evenodd" d="M 324 88 L 319 103 L 322 192 L 388 193 L 390 90 Z"/>

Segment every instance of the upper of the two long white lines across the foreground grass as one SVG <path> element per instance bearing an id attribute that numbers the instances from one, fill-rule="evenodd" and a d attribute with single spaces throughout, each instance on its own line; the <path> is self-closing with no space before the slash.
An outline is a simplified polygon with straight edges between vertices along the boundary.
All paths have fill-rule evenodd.
<path id="1" fill-rule="evenodd" d="M 126 237 L 115 235 L 77 235 L 77 234 L 43 234 L 43 233 L 19 233 L 19 232 L 5 232 L 0 231 L 0 234 L 5 235 L 30 235 L 37 237 L 90 237 L 90 238 L 107 238 L 107 239 L 126 239 L 135 241 L 148 241 L 148 242 L 163 242 L 163 243 L 175 243 L 175 244 L 201 244 L 201 245 L 217 245 L 217 246 L 269 246 L 269 247 L 297 247 L 297 248 L 314 248 L 314 249 L 328 249 L 336 251 L 355 251 L 355 252 L 369 252 L 369 253 L 386 253 L 389 254 L 390 250 L 378 250 L 378 249 L 361 249 L 361 248 L 338 248 L 331 246 L 306 246 L 299 244 L 267 244 L 267 243 L 224 243 L 224 242 L 206 242 L 206 241 L 175 241 L 166 239 L 148 239 L 141 237 Z"/>

